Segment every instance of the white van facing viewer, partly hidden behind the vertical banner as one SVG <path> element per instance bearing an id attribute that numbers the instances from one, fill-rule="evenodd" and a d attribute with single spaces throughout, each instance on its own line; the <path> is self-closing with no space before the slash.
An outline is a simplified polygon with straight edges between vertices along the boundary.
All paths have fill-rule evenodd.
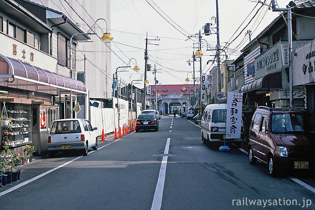
<path id="1" fill-rule="evenodd" d="M 227 109 L 225 104 L 207 105 L 201 117 L 201 140 L 209 147 L 214 142 L 224 143 Z M 242 121 L 243 123 L 243 121 Z M 243 126 L 241 139 L 226 139 L 226 142 L 235 143 L 238 146 L 243 138 Z"/>

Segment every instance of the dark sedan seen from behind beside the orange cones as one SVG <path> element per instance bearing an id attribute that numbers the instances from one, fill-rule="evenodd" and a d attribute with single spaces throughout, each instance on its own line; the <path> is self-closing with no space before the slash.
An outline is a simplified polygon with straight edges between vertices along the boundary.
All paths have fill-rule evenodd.
<path id="1" fill-rule="evenodd" d="M 155 114 L 140 114 L 136 121 L 136 132 L 140 130 L 158 130 L 158 119 Z"/>

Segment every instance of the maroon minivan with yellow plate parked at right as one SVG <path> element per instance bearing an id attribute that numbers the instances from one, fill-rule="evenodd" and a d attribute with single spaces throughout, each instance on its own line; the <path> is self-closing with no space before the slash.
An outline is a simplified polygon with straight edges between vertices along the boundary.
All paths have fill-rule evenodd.
<path id="1" fill-rule="evenodd" d="M 256 109 L 249 127 L 250 164 L 261 160 L 272 176 L 285 169 L 315 169 L 314 151 L 315 121 L 305 109 Z"/>

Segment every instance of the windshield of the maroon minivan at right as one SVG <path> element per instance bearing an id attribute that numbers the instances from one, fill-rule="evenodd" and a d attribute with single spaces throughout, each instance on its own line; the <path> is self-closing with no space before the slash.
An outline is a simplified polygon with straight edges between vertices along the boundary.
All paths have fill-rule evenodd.
<path id="1" fill-rule="evenodd" d="M 315 122 L 309 114 L 273 114 L 271 117 L 271 131 L 275 133 L 313 132 L 315 131 Z"/>

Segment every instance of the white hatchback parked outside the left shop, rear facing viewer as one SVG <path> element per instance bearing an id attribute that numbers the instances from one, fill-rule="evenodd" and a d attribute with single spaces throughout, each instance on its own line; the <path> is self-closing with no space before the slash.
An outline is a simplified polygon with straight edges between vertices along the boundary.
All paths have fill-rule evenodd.
<path id="1" fill-rule="evenodd" d="M 84 156 L 88 149 L 97 150 L 97 135 L 88 120 L 62 119 L 55 120 L 48 137 L 48 151 L 50 156 L 55 152 L 66 150 L 80 150 Z"/>

